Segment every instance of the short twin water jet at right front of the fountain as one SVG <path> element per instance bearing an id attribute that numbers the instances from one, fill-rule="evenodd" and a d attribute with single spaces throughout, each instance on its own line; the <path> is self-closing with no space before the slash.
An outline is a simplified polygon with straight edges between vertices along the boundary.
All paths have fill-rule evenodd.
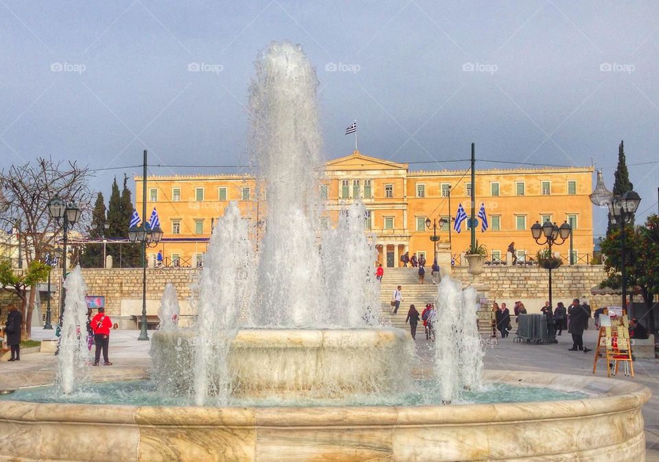
<path id="1" fill-rule="evenodd" d="M 435 376 L 442 402 L 450 403 L 463 390 L 481 386 L 483 346 L 476 324 L 476 291 L 463 291 L 459 280 L 444 277 L 436 306 Z"/>

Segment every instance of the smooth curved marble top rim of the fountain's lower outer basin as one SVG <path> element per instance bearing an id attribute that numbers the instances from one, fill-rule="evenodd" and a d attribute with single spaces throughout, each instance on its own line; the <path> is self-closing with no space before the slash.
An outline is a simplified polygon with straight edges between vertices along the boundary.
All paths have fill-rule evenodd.
<path id="1" fill-rule="evenodd" d="M 651 391 L 638 383 L 611 378 L 522 371 L 485 371 L 488 382 L 558 386 L 590 395 L 557 400 L 450 406 L 134 406 L 123 404 L 0 401 L 0 420 L 96 422 L 155 426 L 369 426 L 503 423 L 575 418 L 622 412 L 643 406 Z M 526 381 L 525 381 L 526 380 Z M 557 404 L 560 404 L 559 406 Z"/>

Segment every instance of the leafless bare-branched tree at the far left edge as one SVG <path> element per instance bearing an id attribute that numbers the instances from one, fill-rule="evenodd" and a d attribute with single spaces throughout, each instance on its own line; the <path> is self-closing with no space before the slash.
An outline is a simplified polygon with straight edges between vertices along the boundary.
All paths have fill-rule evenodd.
<path id="1" fill-rule="evenodd" d="M 55 162 L 52 158 L 37 158 L 25 165 L 12 165 L 0 172 L 0 225 L 18 231 L 20 245 L 25 252 L 28 267 L 33 261 L 41 261 L 57 245 L 63 223 L 50 216 L 48 201 L 58 195 L 67 201 L 75 201 L 82 210 L 82 217 L 90 209 L 91 173 L 76 162 Z M 84 229 L 84 221 L 74 229 Z M 25 330 L 30 337 L 32 310 L 36 283 L 30 287 L 30 300 L 23 307 Z"/>

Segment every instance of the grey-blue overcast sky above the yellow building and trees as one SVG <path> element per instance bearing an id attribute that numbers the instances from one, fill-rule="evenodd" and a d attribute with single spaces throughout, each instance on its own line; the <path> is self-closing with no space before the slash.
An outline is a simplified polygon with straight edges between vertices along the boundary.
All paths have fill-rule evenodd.
<path id="1" fill-rule="evenodd" d="M 510 168 L 592 160 L 611 189 L 624 139 L 639 219 L 657 210 L 656 1 L 1 0 L 0 168 L 132 166 L 143 149 L 152 164 L 242 165 L 253 61 L 272 40 L 317 67 L 327 158 L 351 153 L 357 119 L 369 156 L 445 162 L 473 141 Z M 141 173 L 104 171 L 97 188 L 124 171 Z M 235 169 L 150 169 L 207 171 Z"/>

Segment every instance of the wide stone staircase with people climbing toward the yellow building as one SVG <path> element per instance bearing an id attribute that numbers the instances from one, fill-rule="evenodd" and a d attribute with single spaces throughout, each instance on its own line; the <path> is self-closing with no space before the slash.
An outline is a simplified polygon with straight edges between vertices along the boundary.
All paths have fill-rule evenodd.
<path id="1" fill-rule="evenodd" d="M 391 311 L 391 298 L 397 286 L 402 286 L 403 302 L 398 308 L 398 313 L 393 316 Z M 432 284 L 430 270 L 426 269 L 424 284 L 419 284 L 418 268 L 386 268 L 382 277 L 380 287 L 380 320 L 383 324 L 391 324 L 393 327 L 409 330 L 409 324 L 405 324 L 407 311 L 414 304 L 419 313 L 424 311 L 426 303 L 435 302 L 437 297 L 437 286 Z M 419 325 L 421 321 L 419 321 Z M 423 332 L 423 328 L 421 328 Z"/>

